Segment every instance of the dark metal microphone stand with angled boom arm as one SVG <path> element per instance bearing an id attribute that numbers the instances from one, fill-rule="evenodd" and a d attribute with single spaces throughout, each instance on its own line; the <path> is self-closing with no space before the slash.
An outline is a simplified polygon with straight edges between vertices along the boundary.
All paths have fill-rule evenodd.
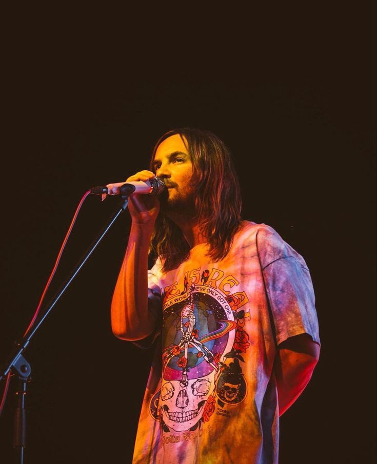
<path id="1" fill-rule="evenodd" d="M 131 186 L 132 187 L 132 186 Z M 30 343 L 31 338 L 34 336 L 36 331 L 41 327 L 46 317 L 55 306 L 58 299 L 66 291 L 74 277 L 77 275 L 78 271 L 84 266 L 89 256 L 93 253 L 94 249 L 100 243 L 102 238 L 105 236 L 107 231 L 113 225 L 115 220 L 120 216 L 120 214 L 127 209 L 128 205 L 128 196 L 134 190 L 129 188 L 129 186 L 124 189 L 121 188 L 122 204 L 121 207 L 115 212 L 111 217 L 108 225 L 103 229 L 103 231 L 98 235 L 98 237 L 93 241 L 92 245 L 89 247 L 88 251 L 72 271 L 71 276 L 66 280 L 66 283 L 63 285 L 62 290 L 60 290 L 57 295 L 53 298 L 51 304 L 46 310 L 43 317 L 38 321 L 33 330 L 29 334 L 26 334 L 21 340 L 16 340 L 14 342 L 15 348 L 13 349 L 11 355 L 9 356 L 8 361 L 4 363 L 5 370 L 0 371 L 0 381 L 6 377 L 11 370 L 13 374 L 18 377 L 18 387 L 16 389 L 16 407 L 14 410 L 14 429 L 13 429 L 13 447 L 15 448 L 15 462 L 16 464 L 24 464 L 24 450 L 26 447 L 25 437 L 26 437 L 26 413 L 25 413 L 25 397 L 26 397 L 26 386 L 30 382 L 31 367 L 28 361 L 24 358 L 23 353 L 27 346 Z"/>

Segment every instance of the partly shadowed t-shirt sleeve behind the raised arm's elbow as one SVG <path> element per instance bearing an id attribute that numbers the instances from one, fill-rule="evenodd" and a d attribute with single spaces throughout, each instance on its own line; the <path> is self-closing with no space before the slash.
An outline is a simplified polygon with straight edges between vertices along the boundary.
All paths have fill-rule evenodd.
<path id="1" fill-rule="evenodd" d="M 152 313 L 156 319 L 156 329 L 147 337 L 133 341 L 133 344 L 139 348 L 150 348 L 158 335 L 161 334 L 162 328 L 162 297 L 161 288 L 159 286 L 159 276 L 161 272 L 161 261 L 157 258 L 152 269 L 148 270 L 148 311 Z"/>

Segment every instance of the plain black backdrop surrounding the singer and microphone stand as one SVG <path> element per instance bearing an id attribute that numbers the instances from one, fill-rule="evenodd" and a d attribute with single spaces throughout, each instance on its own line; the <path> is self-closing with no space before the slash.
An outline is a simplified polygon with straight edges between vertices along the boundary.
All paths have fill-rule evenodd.
<path id="1" fill-rule="evenodd" d="M 280 462 L 373 462 L 374 5 L 267 8 L 5 15 L 0 358 L 25 331 L 82 195 L 146 168 L 165 131 L 208 129 L 233 154 L 244 218 L 304 256 L 316 292 L 321 359 L 281 418 Z M 51 294 L 117 205 L 85 201 Z M 26 463 L 131 462 L 152 353 L 110 329 L 129 225 L 126 212 L 25 352 Z"/>

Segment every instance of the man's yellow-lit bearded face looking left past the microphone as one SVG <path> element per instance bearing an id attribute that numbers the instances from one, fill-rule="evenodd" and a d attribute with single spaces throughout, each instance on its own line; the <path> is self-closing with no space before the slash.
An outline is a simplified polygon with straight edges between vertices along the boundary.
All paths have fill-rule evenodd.
<path id="1" fill-rule="evenodd" d="M 166 201 L 161 196 L 161 207 L 167 213 L 183 213 L 182 208 L 193 211 L 193 165 L 185 143 L 179 134 L 171 135 L 158 145 L 154 156 L 153 170 L 167 187 Z"/>

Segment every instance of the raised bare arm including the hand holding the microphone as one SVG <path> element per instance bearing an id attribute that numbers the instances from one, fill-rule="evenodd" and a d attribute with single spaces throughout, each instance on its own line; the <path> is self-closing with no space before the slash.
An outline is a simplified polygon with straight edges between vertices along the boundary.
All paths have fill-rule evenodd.
<path id="1" fill-rule="evenodd" d="M 147 180 L 153 175 L 150 171 L 141 171 L 127 180 Z M 148 311 L 147 271 L 149 244 L 159 211 L 158 198 L 132 195 L 128 209 L 132 226 L 111 302 L 111 327 L 115 336 L 132 341 L 149 335 L 156 324 Z"/>

